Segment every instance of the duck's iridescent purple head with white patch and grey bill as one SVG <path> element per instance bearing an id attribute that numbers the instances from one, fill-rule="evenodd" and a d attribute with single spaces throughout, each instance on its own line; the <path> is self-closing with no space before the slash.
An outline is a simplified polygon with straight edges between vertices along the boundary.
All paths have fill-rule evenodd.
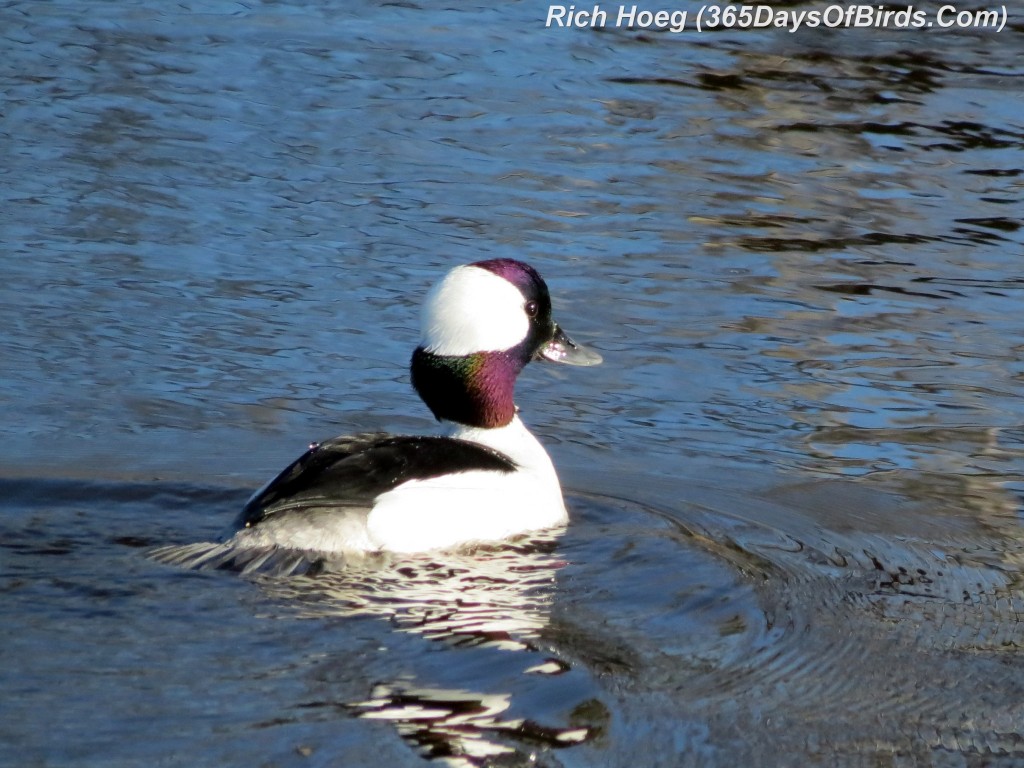
<path id="1" fill-rule="evenodd" d="M 438 420 L 501 427 L 515 417 L 527 362 L 596 366 L 551 318 L 551 296 L 529 264 L 490 259 L 457 266 L 427 294 L 413 386 Z"/>

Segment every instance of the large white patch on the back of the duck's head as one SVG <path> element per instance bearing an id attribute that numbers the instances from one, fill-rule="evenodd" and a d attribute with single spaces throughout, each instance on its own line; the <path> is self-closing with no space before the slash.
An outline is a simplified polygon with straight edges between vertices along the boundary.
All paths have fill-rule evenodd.
<path id="1" fill-rule="evenodd" d="M 457 266 L 427 294 L 423 346 L 460 357 L 514 347 L 529 331 L 524 302 L 504 278 L 477 266 Z"/>

